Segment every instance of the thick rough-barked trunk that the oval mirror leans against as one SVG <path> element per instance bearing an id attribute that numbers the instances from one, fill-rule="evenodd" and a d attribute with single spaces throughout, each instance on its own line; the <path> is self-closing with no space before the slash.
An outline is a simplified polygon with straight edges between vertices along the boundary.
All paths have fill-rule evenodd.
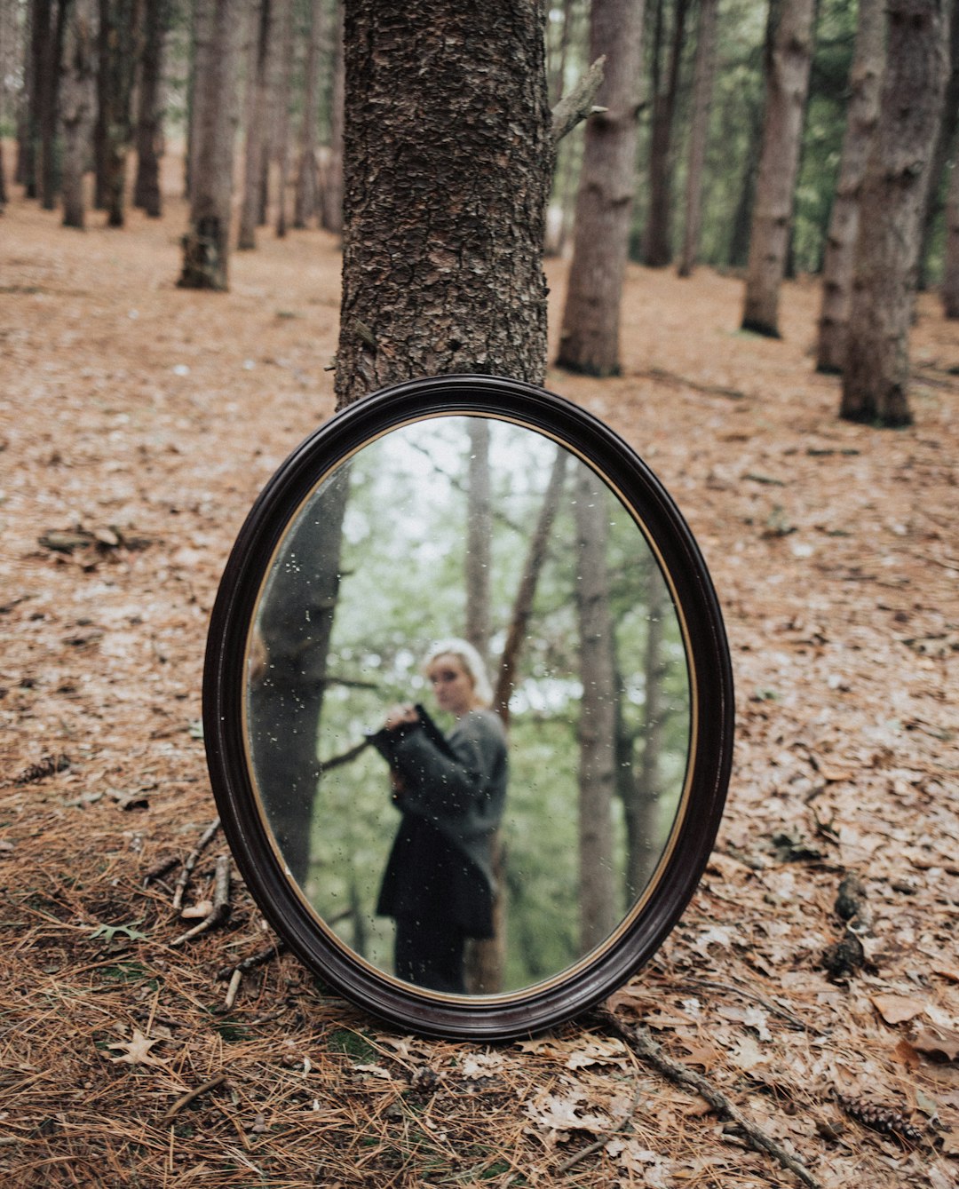
<path id="1" fill-rule="evenodd" d="M 541 382 L 542 4 L 358 0 L 345 46 L 339 407 L 414 376 Z"/>

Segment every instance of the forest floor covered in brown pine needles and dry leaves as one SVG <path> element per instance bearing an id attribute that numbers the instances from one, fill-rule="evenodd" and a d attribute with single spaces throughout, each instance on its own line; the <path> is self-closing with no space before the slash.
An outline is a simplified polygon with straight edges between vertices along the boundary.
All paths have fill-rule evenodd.
<path id="1" fill-rule="evenodd" d="M 193 924 L 171 907 L 177 872 L 144 876 L 215 817 L 207 617 L 258 490 L 332 413 L 340 269 L 332 237 L 265 231 L 234 254 L 229 294 L 183 291 L 183 218 L 173 201 L 80 234 L 14 199 L 0 220 L 0 1179 L 799 1184 L 595 1017 L 496 1046 L 400 1037 L 290 955 L 227 1009 L 217 973 L 269 938 L 239 881 L 227 929 L 171 944 Z M 554 323 L 564 270 L 549 266 Z M 737 681 L 715 855 L 613 1006 L 816 1183 L 946 1189 L 959 325 L 921 298 L 916 422 L 884 432 L 837 420 L 838 382 L 813 370 L 816 285 L 782 302 L 784 338 L 764 340 L 737 329 L 736 278 L 631 268 L 624 375 L 548 377 L 673 492 Z M 866 964 L 833 981 L 847 873 L 871 933 Z"/>

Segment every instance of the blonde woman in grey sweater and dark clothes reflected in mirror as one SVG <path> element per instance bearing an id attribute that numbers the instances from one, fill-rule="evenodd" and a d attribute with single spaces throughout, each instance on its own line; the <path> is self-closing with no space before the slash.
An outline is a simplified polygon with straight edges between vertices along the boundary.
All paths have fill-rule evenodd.
<path id="1" fill-rule="evenodd" d="M 402 705 L 373 736 L 403 814 L 377 912 L 396 919 L 398 979 L 462 995 L 466 938 L 493 936 L 491 843 L 506 795 L 506 735 L 472 644 L 436 644 L 425 674 L 456 725 L 443 737 L 422 707 Z"/>

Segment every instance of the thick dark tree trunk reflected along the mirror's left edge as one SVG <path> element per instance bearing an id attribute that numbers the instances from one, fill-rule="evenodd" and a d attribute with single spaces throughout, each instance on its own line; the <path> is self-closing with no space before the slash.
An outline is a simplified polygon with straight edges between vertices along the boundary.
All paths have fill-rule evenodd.
<path id="1" fill-rule="evenodd" d="M 340 590 L 348 466 L 284 543 L 263 599 L 251 665 L 250 724 L 257 784 L 283 860 L 303 886 L 318 779 L 317 734 Z M 314 503 L 315 507 L 315 503 Z"/>

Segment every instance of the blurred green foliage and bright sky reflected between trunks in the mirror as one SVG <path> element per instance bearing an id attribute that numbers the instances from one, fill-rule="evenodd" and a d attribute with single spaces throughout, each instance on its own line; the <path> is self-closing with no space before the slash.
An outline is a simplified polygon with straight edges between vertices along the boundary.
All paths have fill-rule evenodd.
<path id="1" fill-rule="evenodd" d="M 505 644 L 556 446 L 525 429 L 491 423 L 492 574 L 490 653 Z M 392 963 L 393 923 L 374 914 L 399 822 L 384 761 L 372 749 L 335 765 L 397 702 L 436 713 L 421 661 L 431 641 L 460 636 L 466 616 L 467 419 L 442 417 L 395 430 L 351 460 L 342 577 L 327 658 L 320 728 L 321 776 L 314 804 L 305 892 L 343 942 L 379 969 Z M 574 466 L 582 464 L 574 461 Z M 569 470 L 569 468 L 568 468 Z M 329 482 L 329 480 L 328 480 Z M 504 989 L 550 977 L 579 951 L 579 738 L 581 684 L 575 610 L 574 487 L 560 499 L 510 699 L 510 782 L 500 830 L 505 853 Z M 323 485 L 313 497 L 322 509 Z M 656 567 L 636 522 L 608 499 L 608 572 L 616 623 L 623 730 L 638 770 L 648 729 L 645 653 L 649 586 Z M 282 564 L 282 552 L 278 559 Z M 658 571 L 657 571 L 658 572 Z M 689 691 L 680 625 L 662 622 L 658 787 L 646 839 L 660 855 L 682 791 Z M 496 665 L 491 666 L 496 685 Z M 453 726 L 436 713 L 443 730 Z M 627 887 L 624 805 L 613 806 L 616 886 Z"/>

